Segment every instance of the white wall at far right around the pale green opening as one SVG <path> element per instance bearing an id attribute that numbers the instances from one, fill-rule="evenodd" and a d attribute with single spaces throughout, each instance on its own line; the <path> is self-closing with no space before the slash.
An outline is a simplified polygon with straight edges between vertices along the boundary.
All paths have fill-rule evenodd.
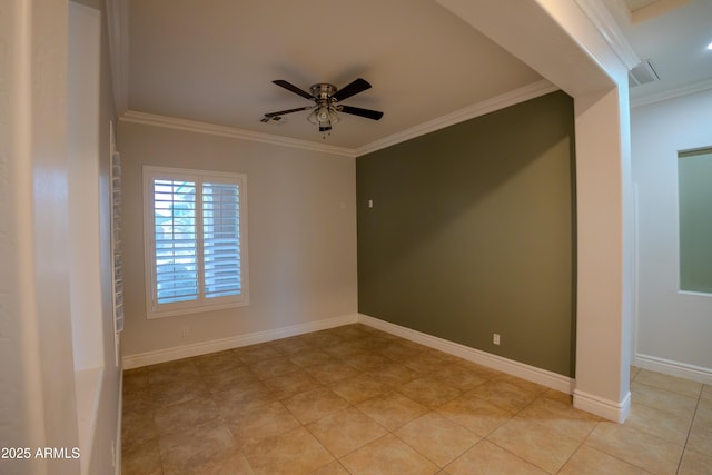
<path id="1" fill-rule="evenodd" d="M 712 382 L 712 295 L 679 291 L 678 151 L 712 146 L 712 90 L 632 109 L 637 184 L 634 364 Z"/>

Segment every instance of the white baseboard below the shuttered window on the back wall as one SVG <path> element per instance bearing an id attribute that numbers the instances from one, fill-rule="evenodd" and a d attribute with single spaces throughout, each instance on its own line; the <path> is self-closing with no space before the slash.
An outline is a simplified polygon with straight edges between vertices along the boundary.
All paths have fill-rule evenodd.
<path id="1" fill-rule="evenodd" d="M 158 363 L 172 362 L 175 359 L 190 358 L 194 356 L 206 355 L 208 353 L 222 352 L 226 349 L 239 348 L 241 346 L 273 342 L 275 339 L 287 338 L 290 336 L 303 335 L 312 331 L 319 331 L 327 328 L 340 327 L 343 325 L 355 324 L 357 321 L 357 315 L 344 315 L 340 317 L 309 321 L 306 324 L 275 328 L 271 330 L 255 331 L 251 334 L 238 335 L 229 338 L 200 342 L 191 345 L 158 349 L 156 352 L 140 353 L 137 355 L 127 355 L 123 357 L 123 369 L 140 368 L 142 366 L 156 365 Z"/>

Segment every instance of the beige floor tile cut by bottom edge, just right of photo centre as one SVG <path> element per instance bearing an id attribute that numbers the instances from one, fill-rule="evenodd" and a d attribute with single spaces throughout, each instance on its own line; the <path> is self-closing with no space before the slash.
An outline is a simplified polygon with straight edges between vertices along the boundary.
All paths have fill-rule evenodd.
<path id="1" fill-rule="evenodd" d="M 431 461 L 390 434 L 352 452 L 340 462 L 352 474 L 432 475 L 437 472 Z"/>

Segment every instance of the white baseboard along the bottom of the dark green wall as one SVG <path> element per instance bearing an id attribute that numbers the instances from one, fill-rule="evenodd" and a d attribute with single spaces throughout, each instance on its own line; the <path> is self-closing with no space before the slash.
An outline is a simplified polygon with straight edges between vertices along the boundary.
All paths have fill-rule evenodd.
<path id="1" fill-rule="evenodd" d="M 388 321 L 379 320 L 378 318 L 369 317 L 368 315 L 358 314 L 358 321 L 392 335 L 419 343 L 421 345 L 429 346 L 431 348 L 439 349 L 441 352 L 458 356 L 469 362 L 507 373 L 522 379 L 541 384 L 542 386 L 546 386 L 562 393 L 573 394 L 574 379 L 570 377 L 416 331 L 411 328 L 394 325 Z"/>

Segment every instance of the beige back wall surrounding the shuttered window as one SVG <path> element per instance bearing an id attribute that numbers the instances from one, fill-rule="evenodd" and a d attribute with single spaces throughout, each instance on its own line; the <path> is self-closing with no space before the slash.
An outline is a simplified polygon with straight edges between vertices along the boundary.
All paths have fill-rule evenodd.
<path id="1" fill-rule="evenodd" d="M 246 335 L 356 318 L 354 158 L 128 121 L 119 123 L 118 142 L 127 367 L 238 345 Z M 146 318 L 144 165 L 247 174 L 249 306 Z"/>

